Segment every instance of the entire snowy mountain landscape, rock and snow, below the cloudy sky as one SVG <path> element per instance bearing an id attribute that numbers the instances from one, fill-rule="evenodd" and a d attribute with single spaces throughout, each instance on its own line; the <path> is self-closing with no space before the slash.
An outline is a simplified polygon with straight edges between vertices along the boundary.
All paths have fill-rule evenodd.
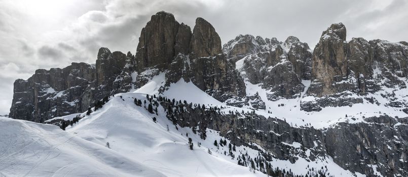
<path id="1" fill-rule="evenodd" d="M 406 56 L 342 23 L 314 50 L 249 34 L 221 48 L 206 20 L 158 12 L 135 55 L 15 81 L 10 117 L 53 125 L 0 119 L 0 176 L 406 176 Z"/>

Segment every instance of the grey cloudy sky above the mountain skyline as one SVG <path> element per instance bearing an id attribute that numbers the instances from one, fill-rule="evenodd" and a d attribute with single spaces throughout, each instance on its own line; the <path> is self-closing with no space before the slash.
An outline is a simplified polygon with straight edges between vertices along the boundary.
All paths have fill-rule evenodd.
<path id="1" fill-rule="evenodd" d="M 331 23 L 343 22 L 347 39 L 408 41 L 404 0 L 0 0 L 0 115 L 8 114 L 13 82 L 35 69 L 94 63 L 97 50 L 136 52 L 141 28 L 159 11 L 194 27 L 209 21 L 222 43 L 238 34 L 293 35 L 313 49 Z"/>

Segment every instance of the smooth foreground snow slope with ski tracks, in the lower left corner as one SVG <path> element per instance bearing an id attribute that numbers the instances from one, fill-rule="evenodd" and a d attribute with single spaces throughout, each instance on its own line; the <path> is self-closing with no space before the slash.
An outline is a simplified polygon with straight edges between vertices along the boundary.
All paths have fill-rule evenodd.
<path id="1" fill-rule="evenodd" d="M 58 126 L 0 117 L 0 176 L 164 176 Z"/>

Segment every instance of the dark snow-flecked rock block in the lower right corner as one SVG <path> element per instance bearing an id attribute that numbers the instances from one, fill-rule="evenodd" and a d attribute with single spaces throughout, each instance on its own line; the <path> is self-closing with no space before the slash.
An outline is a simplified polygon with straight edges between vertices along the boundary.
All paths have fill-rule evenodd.
<path id="1" fill-rule="evenodd" d="M 327 153 L 342 168 L 367 176 L 406 176 L 407 120 L 384 115 L 366 118 L 368 123 L 339 123 L 324 131 Z"/>

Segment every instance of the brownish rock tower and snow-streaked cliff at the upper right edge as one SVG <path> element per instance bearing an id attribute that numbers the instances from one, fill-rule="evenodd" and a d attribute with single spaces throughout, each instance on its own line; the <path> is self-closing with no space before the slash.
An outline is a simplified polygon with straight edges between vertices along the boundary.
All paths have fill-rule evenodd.
<path id="1" fill-rule="evenodd" d="M 363 100 L 377 102 L 373 94 L 381 91 L 387 106 L 404 107 L 403 95 L 389 89 L 404 89 L 407 78 L 407 46 L 403 42 L 346 41 L 342 23 L 323 31 L 313 52 L 312 83 L 301 104 L 305 111 L 319 111 L 327 106 L 352 106 Z M 389 88 L 389 89 L 387 89 Z"/>

